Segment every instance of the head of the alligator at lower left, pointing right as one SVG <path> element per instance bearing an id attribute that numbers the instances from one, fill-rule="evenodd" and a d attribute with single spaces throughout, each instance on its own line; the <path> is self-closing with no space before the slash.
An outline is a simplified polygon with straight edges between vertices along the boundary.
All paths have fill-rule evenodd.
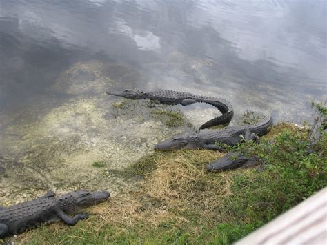
<path id="1" fill-rule="evenodd" d="M 61 206 L 65 209 L 72 208 L 86 208 L 91 205 L 99 204 L 110 197 L 110 193 L 106 190 L 102 191 L 88 191 L 88 190 L 76 190 L 71 193 L 67 193 L 62 197 L 59 197 Z"/>

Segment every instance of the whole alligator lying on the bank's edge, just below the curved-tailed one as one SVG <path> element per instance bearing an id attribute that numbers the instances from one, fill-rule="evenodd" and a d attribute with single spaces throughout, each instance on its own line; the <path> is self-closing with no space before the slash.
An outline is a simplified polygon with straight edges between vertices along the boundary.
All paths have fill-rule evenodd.
<path id="1" fill-rule="evenodd" d="M 271 117 L 265 117 L 262 121 L 253 125 L 236 126 L 221 130 L 204 130 L 192 135 L 179 135 L 168 139 L 155 146 L 157 150 L 179 150 L 203 148 L 209 150 L 221 150 L 224 148 L 216 143 L 235 145 L 244 139 L 255 140 L 268 133 L 268 128 L 273 125 Z"/>

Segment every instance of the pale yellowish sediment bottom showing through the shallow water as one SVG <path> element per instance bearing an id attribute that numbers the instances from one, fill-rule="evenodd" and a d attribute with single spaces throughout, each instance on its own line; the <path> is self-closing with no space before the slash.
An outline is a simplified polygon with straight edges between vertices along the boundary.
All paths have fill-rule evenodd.
<path id="1" fill-rule="evenodd" d="M 98 74 L 95 68 L 90 66 Z M 79 92 L 81 79 L 72 79 L 71 84 L 66 81 L 61 92 L 68 89 L 76 96 L 52 108 L 43 103 L 47 99 L 42 97 L 30 109 L 36 117 L 17 119 L 28 114 L 25 108 L 15 115 L 3 115 L 6 124 L 0 130 L 1 204 L 21 202 L 48 189 L 59 193 L 78 188 L 106 189 L 115 195 L 132 188 L 140 179 L 120 176 L 121 171 L 150 153 L 160 139 L 189 129 L 187 124 L 168 128 L 166 116 L 154 117 L 153 111 L 165 110 L 161 105 L 109 97 L 105 94 L 109 85 L 103 81 L 110 78 L 97 76 L 90 82 L 90 90 L 82 81 Z M 86 92 L 92 95 L 85 96 Z M 123 107 L 117 108 L 117 101 Z M 95 162 L 103 166 L 98 168 Z"/>

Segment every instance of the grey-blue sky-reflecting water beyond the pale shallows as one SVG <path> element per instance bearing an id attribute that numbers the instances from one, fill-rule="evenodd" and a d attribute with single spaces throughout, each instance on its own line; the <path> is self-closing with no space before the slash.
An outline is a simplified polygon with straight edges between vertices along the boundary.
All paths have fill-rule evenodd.
<path id="1" fill-rule="evenodd" d="M 135 84 L 117 70 L 119 88 L 210 93 L 277 119 L 308 119 L 326 95 L 326 1 L 1 0 L 0 34 L 1 109 L 90 59 L 139 70 Z"/>

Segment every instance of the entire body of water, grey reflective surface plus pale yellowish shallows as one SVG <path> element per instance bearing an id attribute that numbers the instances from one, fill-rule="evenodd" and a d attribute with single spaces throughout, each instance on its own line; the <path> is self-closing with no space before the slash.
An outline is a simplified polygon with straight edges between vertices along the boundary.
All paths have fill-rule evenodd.
<path id="1" fill-rule="evenodd" d="M 211 95 L 232 102 L 235 121 L 255 110 L 299 123 L 326 99 L 326 51 L 325 1 L 0 0 L 1 200 L 117 193 L 139 179 L 111 170 L 192 130 L 154 117 L 165 107 L 106 90 Z M 195 127 L 218 113 L 168 109 Z"/>

